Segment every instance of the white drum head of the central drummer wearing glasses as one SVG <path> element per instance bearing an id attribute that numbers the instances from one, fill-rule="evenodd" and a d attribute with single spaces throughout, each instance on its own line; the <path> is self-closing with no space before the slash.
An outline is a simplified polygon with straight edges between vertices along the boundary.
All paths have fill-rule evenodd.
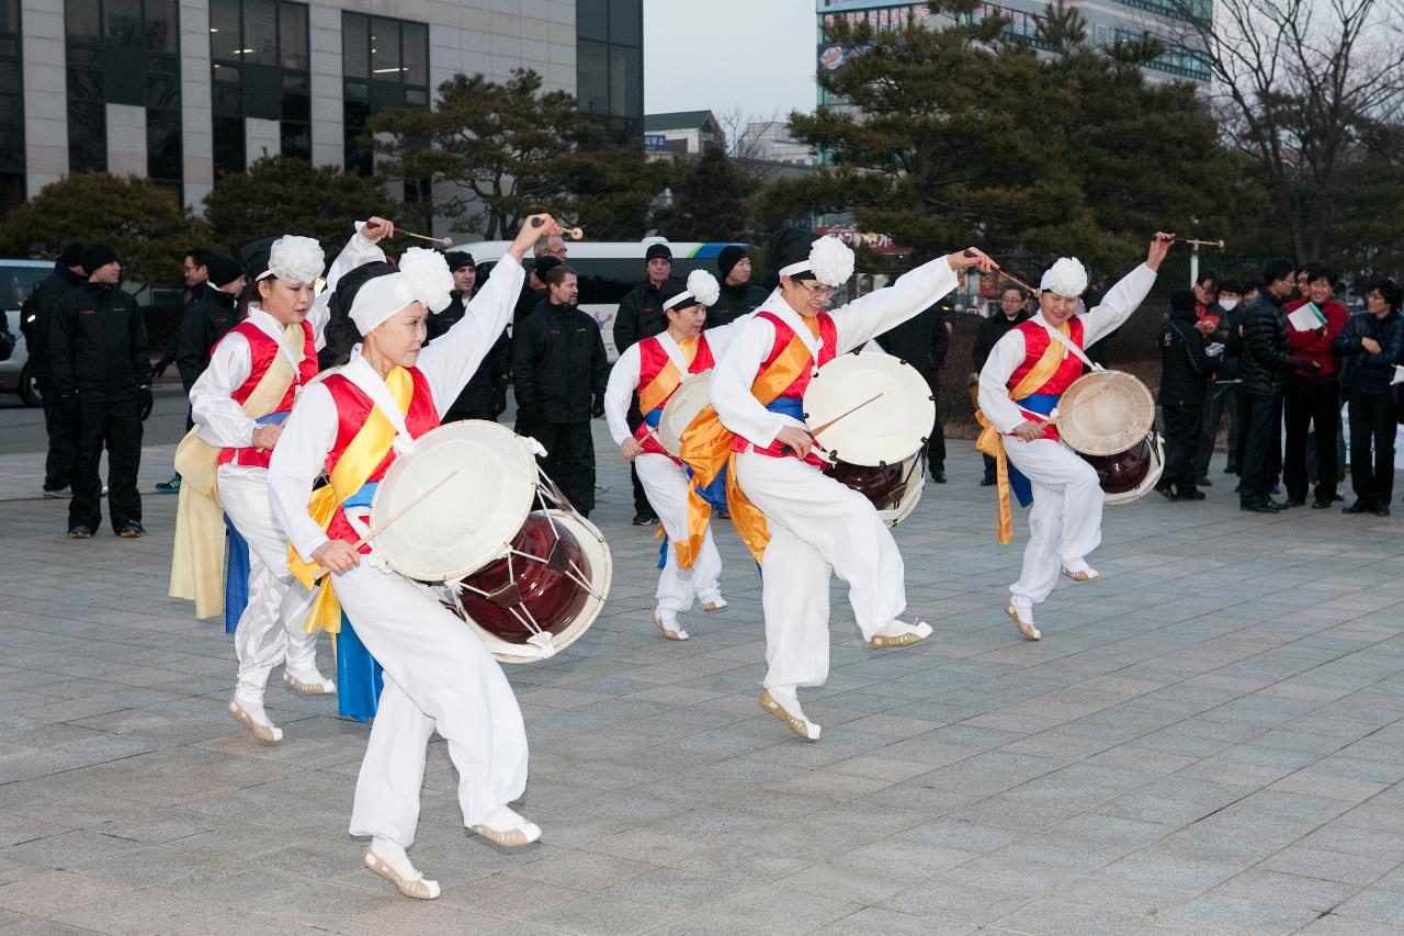
<path id="1" fill-rule="evenodd" d="M 917 368 L 890 354 L 844 354 L 819 368 L 804 391 L 804 422 L 819 427 L 868 403 L 824 429 L 819 443 L 854 465 L 896 465 L 931 436 L 936 403 Z"/>

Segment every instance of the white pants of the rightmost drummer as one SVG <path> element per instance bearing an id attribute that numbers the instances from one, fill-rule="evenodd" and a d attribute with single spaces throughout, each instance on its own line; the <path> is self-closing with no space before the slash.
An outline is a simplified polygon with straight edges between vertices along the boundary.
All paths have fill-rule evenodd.
<path id="1" fill-rule="evenodd" d="M 1004 440 L 1004 451 L 1033 488 L 1024 572 L 1009 593 L 1038 604 L 1053 592 L 1059 571 L 1102 542 L 1102 488 L 1097 471 L 1063 443 Z"/>

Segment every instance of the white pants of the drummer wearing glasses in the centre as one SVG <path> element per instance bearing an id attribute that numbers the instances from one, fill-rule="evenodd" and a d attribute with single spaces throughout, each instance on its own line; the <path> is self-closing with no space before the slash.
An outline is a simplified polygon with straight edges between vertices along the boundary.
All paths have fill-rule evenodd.
<path id="1" fill-rule="evenodd" d="M 870 639 L 907 609 L 897 542 L 868 498 L 813 465 L 747 451 L 736 468 L 771 533 L 761 564 L 764 684 L 821 686 L 828 679 L 830 572 L 848 583 L 858 628 Z"/>

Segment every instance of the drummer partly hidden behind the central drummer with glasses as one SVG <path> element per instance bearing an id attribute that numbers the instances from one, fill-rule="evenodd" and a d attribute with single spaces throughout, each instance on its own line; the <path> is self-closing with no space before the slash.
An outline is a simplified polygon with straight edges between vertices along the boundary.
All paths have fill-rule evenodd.
<path id="1" fill-rule="evenodd" d="M 692 481 L 682 462 L 663 451 L 654 434 L 657 415 L 663 412 L 671 394 L 658 399 L 637 433 L 629 431 L 625 416 L 646 370 L 658 371 L 658 363 L 667 360 L 682 377 L 701 374 L 726 350 L 739 322 L 702 330 L 708 306 L 716 302 L 719 295 L 716 277 L 705 270 L 694 270 L 688 275 L 687 285 L 665 284 L 658 299 L 668 318 L 668 329 L 630 344 L 615 361 L 614 370 L 609 371 L 609 384 L 605 386 L 605 419 L 609 422 L 609 434 L 625 460 L 632 461 L 639 471 L 639 481 L 643 482 L 649 505 L 658 514 L 668 537 L 663 571 L 658 573 L 658 604 L 653 613 L 653 623 L 671 641 L 688 639 L 688 632 L 678 624 L 678 614 L 691 610 L 694 600 L 701 600 L 703 610 L 708 611 L 726 607 L 720 585 L 722 557 L 717 555 L 712 527 L 708 524 L 692 566 L 684 569 L 678 565 L 675 544 L 688 541 L 688 488 Z M 650 364 L 647 368 L 646 354 Z"/>

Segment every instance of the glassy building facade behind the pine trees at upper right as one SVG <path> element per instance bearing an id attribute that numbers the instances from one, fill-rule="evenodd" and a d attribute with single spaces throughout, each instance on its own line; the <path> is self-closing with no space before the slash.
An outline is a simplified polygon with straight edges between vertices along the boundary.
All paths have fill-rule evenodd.
<path id="1" fill-rule="evenodd" d="M 1148 34 L 1164 39 L 1182 35 L 1177 22 L 1184 21 L 1184 11 L 1196 4 L 1199 15 L 1212 15 L 1213 0 L 1068 0 L 1087 21 L 1087 41 L 1094 46 L 1112 45 Z M 1049 0 L 991 0 L 974 8 L 972 20 L 980 22 L 987 17 L 1000 15 L 1008 21 L 1005 34 L 1043 48 L 1039 22 L 1043 20 Z M 910 22 L 925 22 L 935 18 L 925 3 L 893 3 L 892 0 L 816 0 L 819 27 L 819 48 L 816 67 L 820 73 L 831 72 L 849 58 L 862 55 L 862 49 L 830 42 L 824 35 L 826 24 L 834 18 L 851 22 L 866 21 L 875 30 L 901 28 Z M 953 20 L 949 20 L 953 22 Z M 1209 83 L 1209 66 L 1196 55 L 1178 49 L 1167 49 L 1164 55 L 1146 66 L 1151 80 L 1189 80 Z M 819 103 L 830 104 L 823 89 Z"/>

